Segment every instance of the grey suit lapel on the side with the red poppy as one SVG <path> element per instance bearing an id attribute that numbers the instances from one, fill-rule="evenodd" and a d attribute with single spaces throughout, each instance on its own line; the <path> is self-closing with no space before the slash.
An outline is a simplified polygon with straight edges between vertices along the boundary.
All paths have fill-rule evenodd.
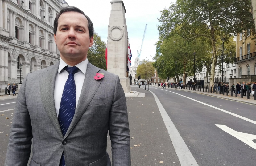
<path id="1" fill-rule="evenodd" d="M 68 131 L 64 136 L 64 139 L 68 136 L 68 134 L 75 127 L 76 123 L 79 121 L 81 116 L 84 114 L 86 108 L 88 107 L 94 94 L 96 93 L 99 85 L 101 84 L 101 80 L 94 79 L 94 76 L 96 75 L 97 72 L 99 73 L 99 71 L 100 71 L 99 68 L 96 68 L 95 66 L 93 66 L 88 62 L 86 73 L 85 73 L 85 80 L 82 86 L 81 95 L 78 100 L 76 112 L 68 128 Z"/>

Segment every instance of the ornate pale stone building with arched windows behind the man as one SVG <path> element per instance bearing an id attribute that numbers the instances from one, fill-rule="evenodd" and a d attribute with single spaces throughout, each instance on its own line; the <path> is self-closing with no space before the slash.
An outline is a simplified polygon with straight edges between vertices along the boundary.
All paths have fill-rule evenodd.
<path id="1" fill-rule="evenodd" d="M 0 0 L 1 92 L 8 83 L 59 61 L 53 21 L 65 6 L 64 0 Z"/>

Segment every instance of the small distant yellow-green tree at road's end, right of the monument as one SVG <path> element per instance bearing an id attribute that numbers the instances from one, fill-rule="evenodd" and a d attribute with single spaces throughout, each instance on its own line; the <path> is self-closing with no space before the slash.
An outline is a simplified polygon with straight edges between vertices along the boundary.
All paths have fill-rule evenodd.
<path id="1" fill-rule="evenodd" d="M 155 71 L 155 68 L 153 67 L 153 62 L 148 60 L 146 61 L 143 59 L 140 65 L 138 65 L 137 76 L 140 75 L 141 79 L 147 80 L 154 75 L 154 71 Z"/>

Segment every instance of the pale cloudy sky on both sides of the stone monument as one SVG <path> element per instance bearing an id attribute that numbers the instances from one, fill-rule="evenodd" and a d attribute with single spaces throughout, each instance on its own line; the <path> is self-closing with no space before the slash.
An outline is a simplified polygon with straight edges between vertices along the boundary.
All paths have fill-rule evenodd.
<path id="1" fill-rule="evenodd" d="M 92 20 L 94 31 L 107 42 L 109 16 L 111 11 L 110 0 L 65 0 L 69 6 L 76 6 L 83 10 Z M 130 48 L 132 52 L 132 66 L 137 57 L 137 50 L 140 51 L 142 38 L 147 23 L 146 35 L 144 38 L 140 61 L 143 59 L 153 61 L 155 56 L 155 42 L 158 41 L 159 32 L 157 25 L 160 11 L 168 8 L 175 0 L 123 0 L 126 9 L 126 24 Z"/>

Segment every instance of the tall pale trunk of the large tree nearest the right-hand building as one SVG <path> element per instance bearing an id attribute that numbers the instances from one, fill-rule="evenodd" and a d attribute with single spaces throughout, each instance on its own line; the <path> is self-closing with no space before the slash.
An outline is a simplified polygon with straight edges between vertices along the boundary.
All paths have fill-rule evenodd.
<path id="1" fill-rule="evenodd" d="M 211 24 L 211 41 L 212 41 L 212 51 L 213 51 L 213 63 L 211 68 L 211 77 L 210 77 L 210 86 L 213 88 L 214 86 L 214 72 L 215 72 L 215 66 L 217 64 L 217 54 L 216 54 L 216 41 L 215 41 L 215 33 L 214 33 L 214 27 Z"/>

